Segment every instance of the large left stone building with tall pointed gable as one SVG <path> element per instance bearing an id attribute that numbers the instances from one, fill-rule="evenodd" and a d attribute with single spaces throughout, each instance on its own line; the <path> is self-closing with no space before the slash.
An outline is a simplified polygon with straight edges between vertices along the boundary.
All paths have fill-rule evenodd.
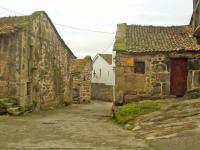
<path id="1" fill-rule="evenodd" d="M 0 97 L 16 99 L 20 109 L 70 100 L 75 58 L 45 12 L 0 18 Z"/>

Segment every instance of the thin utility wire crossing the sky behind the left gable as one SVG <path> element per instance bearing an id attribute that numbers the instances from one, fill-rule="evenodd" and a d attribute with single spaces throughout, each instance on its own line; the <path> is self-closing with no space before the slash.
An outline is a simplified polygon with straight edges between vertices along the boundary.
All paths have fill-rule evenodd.
<path id="1" fill-rule="evenodd" d="M 0 9 L 9 11 L 9 12 L 12 12 L 12 13 L 15 13 L 15 14 L 19 14 L 19 15 L 25 15 L 25 14 L 23 14 L 21 12 L 18 12 L 18 11 L 15 11 L 15 10 L 11 10 L 11 9 L 8 9 L 8 8 L 5 8 L 5 7 L 1 7 L 1 6 L 0 6 Z M 86 32 L 95 32 L 95 33 L 102 33 L 102 34 L 111 34 L 111 35 L 115 34 L 115 33 L 112 33 L 112 32 L 89 30 L 89 29 L 84 29 L 84 28 L 79 28 L 79 27 L 73 27 L 73 26 L 59 24 L 59 23 L 54 23 L 54 24 L 57 25 L 57 26 L 63 27 L 63 28 L 70 28 L 70 29 L 73 29 L 73 30 L 80 30 L 80 31 L 86 31 Z"/>

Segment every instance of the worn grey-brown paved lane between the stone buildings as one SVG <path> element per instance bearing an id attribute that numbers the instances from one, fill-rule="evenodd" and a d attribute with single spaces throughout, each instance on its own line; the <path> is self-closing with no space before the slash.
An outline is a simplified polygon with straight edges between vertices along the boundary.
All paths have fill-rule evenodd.
<path id="1" fill-rule="evenodd" d="M 92 102 L 21 117 L 0 116 L 0 149 L 150 148 L 131 131 L 108 122 L 111 103 Z"/>

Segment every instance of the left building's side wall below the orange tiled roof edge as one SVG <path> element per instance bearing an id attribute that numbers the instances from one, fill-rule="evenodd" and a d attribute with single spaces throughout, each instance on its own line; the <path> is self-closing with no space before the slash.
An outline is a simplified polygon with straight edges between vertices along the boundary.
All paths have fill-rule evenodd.
<path id="1" fill-rule="evenodd" d="M 20 35 L 0 36 L 0 97 L 18 97 Z"/>

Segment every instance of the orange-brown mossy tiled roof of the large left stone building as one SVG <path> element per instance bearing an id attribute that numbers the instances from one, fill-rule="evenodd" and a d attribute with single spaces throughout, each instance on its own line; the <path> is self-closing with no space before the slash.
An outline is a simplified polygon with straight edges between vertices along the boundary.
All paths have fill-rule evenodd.
<path id="1" fill-rule="evenodd" d="M 0 18 L 0 34 L 16 32 L 22 28 L 27 27 L 29 23 L 29 16 Z"/>

